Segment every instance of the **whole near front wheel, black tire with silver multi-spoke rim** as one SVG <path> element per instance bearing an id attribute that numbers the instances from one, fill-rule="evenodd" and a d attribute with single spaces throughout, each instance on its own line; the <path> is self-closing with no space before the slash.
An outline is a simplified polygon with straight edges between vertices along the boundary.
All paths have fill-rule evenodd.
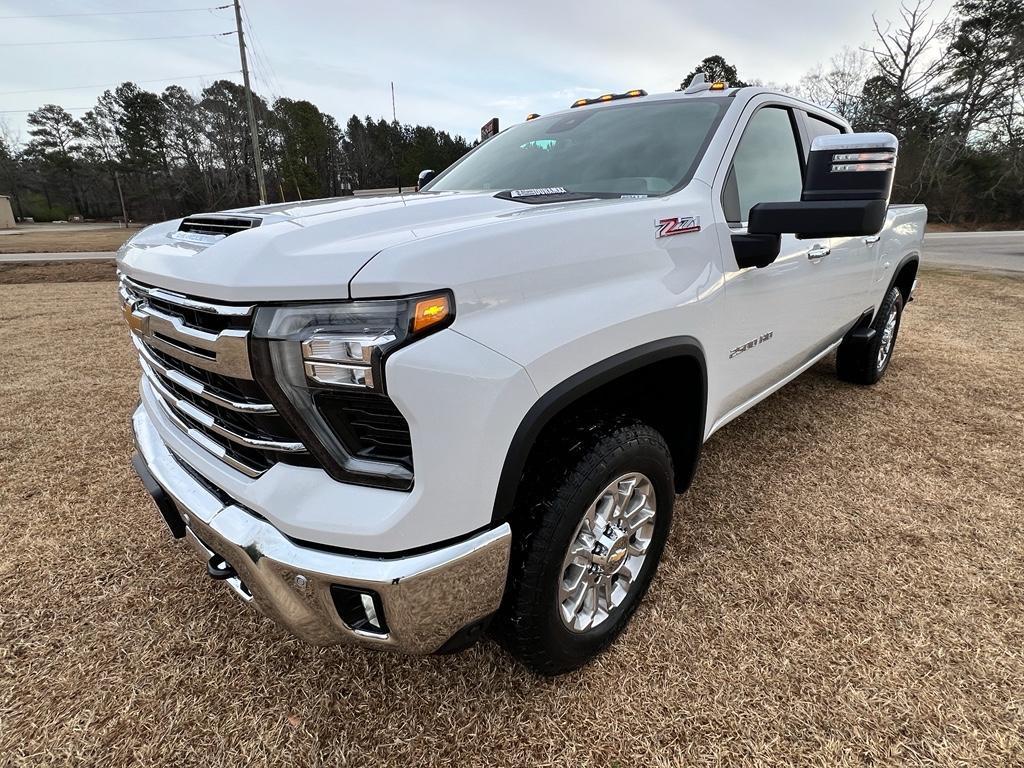
<path id="1" fill-rule="evenodd" d="M 611 643 L 657 568 L 675 501 L 662 435 L 631 419 L 566 428 L 523 477 L 509 584 L 493 629 L 536 672 Z"/>

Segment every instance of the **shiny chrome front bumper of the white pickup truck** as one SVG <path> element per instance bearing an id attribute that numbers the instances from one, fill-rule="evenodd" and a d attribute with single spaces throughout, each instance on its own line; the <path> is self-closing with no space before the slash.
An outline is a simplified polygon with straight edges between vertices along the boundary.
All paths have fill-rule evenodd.
<path id="1" fill-rule="evenodd" d="M 142 407 L 132 425 L 136 471 L 172 530 L 177 524 L 204 560 L 216 555 L 229 563 L 237 577 L 224 581 L 234 594 L 302 640 L 431 653 L 498 609 L 508 571 L 508 523 L 408 557 L 360 557 L 301 547 L 197 480 L 160 439 Z M 386 632 L 346 625 L 332 586 L 375 593 Z"/>

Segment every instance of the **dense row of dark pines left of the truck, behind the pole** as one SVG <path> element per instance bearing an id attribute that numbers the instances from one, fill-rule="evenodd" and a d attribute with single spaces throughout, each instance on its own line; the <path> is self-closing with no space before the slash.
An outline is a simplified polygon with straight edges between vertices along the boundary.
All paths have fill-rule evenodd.
<path id="1" fill-rule="evenodd" d="M 411 186 L 422 169 L 445 168 L 470 147 L 430 126 L 353 115 L 342 127 L 310 101 L 254 99 L 269 202 Z M 18 218 L 117 218 L 124 210 L 156 221 L 258 197 L 245 89 L 228 80 L 198 95 L 126 82 L 81 118 L 45 104 L 28 125 L 24 145 L 0 135 L 0 193 Z"/>

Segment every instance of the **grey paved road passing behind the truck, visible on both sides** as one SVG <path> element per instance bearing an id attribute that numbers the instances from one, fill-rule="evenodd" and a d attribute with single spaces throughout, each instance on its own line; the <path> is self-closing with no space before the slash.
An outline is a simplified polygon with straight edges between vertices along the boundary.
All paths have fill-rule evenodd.
<path id="1" fill-rule="evenodd" d="M 0 254 L 0 261 L 83 261 L 113 258 L 113 253 Z M 926 234 L 922 261 L 932 266 L 1024 272 L 1024 231 Z"/>

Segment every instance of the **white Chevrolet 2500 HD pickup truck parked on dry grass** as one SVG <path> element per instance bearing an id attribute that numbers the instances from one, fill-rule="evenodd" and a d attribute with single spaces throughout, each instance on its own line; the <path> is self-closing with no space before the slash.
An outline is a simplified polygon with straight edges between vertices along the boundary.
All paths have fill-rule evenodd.
<path id="1" fill-rule="evenodd" d="M 401 197 L 188 216 L 118 255 L 133 464 L 300 638 L 543 674 L 622 632 L 717 429 L 885 373 L 926 210 L 890 134 L 762 88 L 581 99 Z"/>

